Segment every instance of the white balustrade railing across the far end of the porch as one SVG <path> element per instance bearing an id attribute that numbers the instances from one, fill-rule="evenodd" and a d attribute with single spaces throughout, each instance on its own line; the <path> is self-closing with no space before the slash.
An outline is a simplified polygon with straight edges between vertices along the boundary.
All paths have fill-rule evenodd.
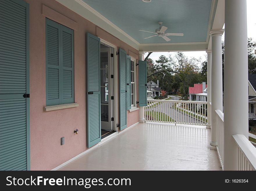
<path id="1" fill-rule="evenodd" d="M 146 121 L 206 125 L 207 102 L 179 100 L 147 100 Z"/>

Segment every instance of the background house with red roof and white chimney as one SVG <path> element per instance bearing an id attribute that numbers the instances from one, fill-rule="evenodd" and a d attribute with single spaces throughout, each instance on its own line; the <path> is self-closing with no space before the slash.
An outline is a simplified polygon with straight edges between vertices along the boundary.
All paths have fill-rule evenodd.
<path id="1" fill-rule="evenodd" d="M 194 84 L 194 87 L 189 87 L 190 101 L 207 101 L 207 84 Z"/>

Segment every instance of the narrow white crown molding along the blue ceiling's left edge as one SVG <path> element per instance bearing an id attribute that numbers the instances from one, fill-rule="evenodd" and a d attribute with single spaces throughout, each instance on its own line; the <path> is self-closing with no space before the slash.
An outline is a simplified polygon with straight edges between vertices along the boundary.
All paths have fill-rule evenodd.
<path id="1" fill-rule="evenodd" d="M 96 11 L 95 9 L 93 9 L 92 7 L 90 7 L 87 3 L 85 3 L 83 0 L 74 0 L 77 3 L 79 3 L 81 6 L 83 6 L 84 8 L 86 8 L 88 11 L 90 11 L 91 13 L 93 13 L 94 15 L 96 15 L 97 17 L 99 17 L 101 20 L 103 20 L 104 22 L 106 22 L 107 24 L 109 24 L 110 26 L 112 26 L 114 29 L 116 29 L 118 32 L 122 33 L 123 35 L 125 35 L 127 38 L 129 38 L 131 41 L 133 41 L 134 43 L 136 43 L 137 45 L 140 45 L 140 43 L 138 43 L 137 40 L 135 40 L 134 38 L 132 38 L 131 36 L 129 36 L 125 31 L 123 31 L 122 29 L 120 29 L 118 26 L 116 26 L 115 24 L 113 24 L 112 22 L 110 22 L 106 17 L 104 17 L 103 15 L 101 15 L 98 11 Z"/>

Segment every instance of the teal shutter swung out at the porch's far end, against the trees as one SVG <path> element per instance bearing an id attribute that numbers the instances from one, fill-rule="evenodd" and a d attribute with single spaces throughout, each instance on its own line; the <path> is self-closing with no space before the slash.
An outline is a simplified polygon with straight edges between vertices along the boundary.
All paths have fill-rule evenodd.
<path id="1" fill-rule="evenodd" d="M 139 106 L 147 105 L 147 64 L 139 60 Z"/>

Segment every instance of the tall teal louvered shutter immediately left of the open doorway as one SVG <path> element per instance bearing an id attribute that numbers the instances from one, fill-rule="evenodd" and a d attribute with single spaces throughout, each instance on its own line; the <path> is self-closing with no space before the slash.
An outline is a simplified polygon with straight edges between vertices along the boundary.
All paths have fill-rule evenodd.
<path id="1" fill-rule="evenodd" d="M 101 141 L 100 115 L 100 39 L 86 34 L 87 62 L 87 142 L 91 147 Z"/>

